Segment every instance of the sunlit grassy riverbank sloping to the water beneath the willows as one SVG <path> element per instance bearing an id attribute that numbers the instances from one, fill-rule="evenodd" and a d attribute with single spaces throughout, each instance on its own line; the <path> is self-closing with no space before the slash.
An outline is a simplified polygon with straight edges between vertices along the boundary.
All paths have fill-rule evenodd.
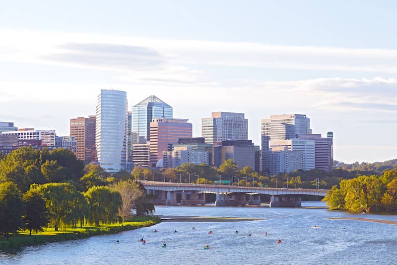
<path id="1" fill-rule="evenodd" d="M 83 226 L 77 228 L 65 228 L 64 230 L 60 231 L 55 231 L 54 228 L 45 228 L 43 232 L 32 233 L 32 235 L 29 235 L 29 231 L 23 231 L 16 235 L 10 235 L 9 240 L 0 238 L 0 250 L 15 250 L 22 247 L 41 245 L 51 242 L 115 234 L 122 231 L 152 226 L 160 222 L 161 219 L 157 216 L 134 216 L 133 218 L 123 222 L 123 224 Z"/>

